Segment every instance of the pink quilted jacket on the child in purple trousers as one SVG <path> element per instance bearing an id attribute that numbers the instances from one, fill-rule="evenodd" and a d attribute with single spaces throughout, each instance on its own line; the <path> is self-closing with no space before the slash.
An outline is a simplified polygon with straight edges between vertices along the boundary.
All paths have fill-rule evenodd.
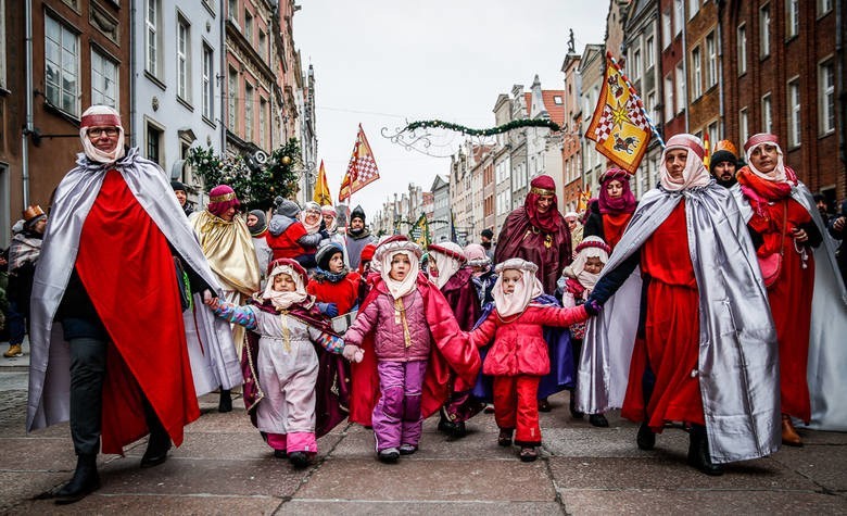
<path id="1" fill-rule="evenodd" d="M 430 333 L 423 312 L 423 297 L 417 289 L 402 298 L 406 307 L 406 323 L 412 345 L 406 348 L 403 322 L 394 310 L 394 298 L 380 292 L 377 298 L 358 312 L 356 320 L 346 333 L 344 343 L 362 345 L 365 336 L 376 329 L 374 350 L 379 361 L 412 362 L 429 358 Z"/>

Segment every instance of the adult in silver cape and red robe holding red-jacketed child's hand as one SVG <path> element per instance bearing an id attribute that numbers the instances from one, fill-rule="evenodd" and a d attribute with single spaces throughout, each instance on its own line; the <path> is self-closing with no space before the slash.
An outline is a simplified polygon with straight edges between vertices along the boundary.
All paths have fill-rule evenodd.
<path id="1" fill-rule="evenodd" d="M 605 309 L 585 331 L 577 408 L 622 406 L 642 450 L 684 421 L 688 464 L 721 475 L 779 449 L 776 333 L 744 218 L 703 155 L 695 136 L 668 140 L 659 187 L 589 297 Z"/>

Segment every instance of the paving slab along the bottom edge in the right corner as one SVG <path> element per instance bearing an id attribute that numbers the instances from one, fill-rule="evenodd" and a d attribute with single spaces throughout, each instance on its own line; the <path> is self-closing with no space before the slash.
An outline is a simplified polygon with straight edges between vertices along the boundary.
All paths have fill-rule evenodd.
<path id="1" fill-rule="evenodd" d="M 567 514 L 844 514 L 847 499 L 764 491 L 572 490 L 561 493 Z"/>

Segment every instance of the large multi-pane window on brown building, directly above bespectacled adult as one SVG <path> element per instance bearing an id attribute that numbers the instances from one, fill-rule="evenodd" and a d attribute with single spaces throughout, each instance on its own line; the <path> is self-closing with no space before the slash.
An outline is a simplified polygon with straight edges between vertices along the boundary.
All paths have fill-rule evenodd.
<path id="1" fill-rule="evenodd" d="M 45 16 L 45 97 L 60 110 L 79 115 L 79 37 Z"/>

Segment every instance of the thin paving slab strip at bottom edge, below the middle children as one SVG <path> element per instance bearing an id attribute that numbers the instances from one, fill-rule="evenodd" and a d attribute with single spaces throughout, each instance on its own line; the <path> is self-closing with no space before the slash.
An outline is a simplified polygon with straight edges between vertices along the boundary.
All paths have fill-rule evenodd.
<path id="1" fill-rule="evenodd" d="M 291 500 L 279 514 L 309 514 L 315 516 L 369 516 L 372 514 L 479 516 L 480 514 L 560 515 L 556 502 L 381 502 L 381 501 L 325 501 Z"/>

